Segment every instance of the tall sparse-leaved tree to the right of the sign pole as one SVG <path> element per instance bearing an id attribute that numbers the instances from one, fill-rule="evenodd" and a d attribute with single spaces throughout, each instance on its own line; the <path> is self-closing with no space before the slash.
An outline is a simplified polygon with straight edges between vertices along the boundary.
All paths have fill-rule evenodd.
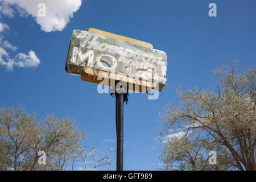
<path id="1" fill-rule="evenodd" d="M 256 71 L 221 66 L 214 71 L 217 92 L 179 86 L 181 104 L 163 111 L 165 142 L 160 159 L 167 169 L 256 170 Z M 176 132 L 176 134 L 170 134 Z M 217 152 L 209 165 L 208 152 Z"/>

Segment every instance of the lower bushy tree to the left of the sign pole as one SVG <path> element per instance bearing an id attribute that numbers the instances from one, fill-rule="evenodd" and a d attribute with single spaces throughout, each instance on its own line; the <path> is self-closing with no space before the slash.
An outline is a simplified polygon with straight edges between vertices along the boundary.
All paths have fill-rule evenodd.
<path id="1" fill-rule="evenodd" d="M 68 162 L 74 164 L 73 159 L 86 153 L 82 145 L 86 137 L 88 133 L 79 130 L 70 118 L 48 115 L 38 122 L 36 114 L 27 114 L 23 107 L 2 107 L 0 170 L 66 170 Z M 39 151 L 46 154 L 45 165 L 38 164 Z"/>

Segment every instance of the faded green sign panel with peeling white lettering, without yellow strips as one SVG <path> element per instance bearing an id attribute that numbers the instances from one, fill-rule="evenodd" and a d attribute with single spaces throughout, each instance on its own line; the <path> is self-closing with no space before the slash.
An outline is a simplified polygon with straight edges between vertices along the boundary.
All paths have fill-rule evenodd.
<path id="1" fill-rule="evenodd" d="M 167 56 L 165 52 L 156 49 L 88 31 L 74 30 L 66 71 L 89 75 L 87 68 L 131 77 L 137 84 L 151 81 L 162 90 L 166 84 Z"/>

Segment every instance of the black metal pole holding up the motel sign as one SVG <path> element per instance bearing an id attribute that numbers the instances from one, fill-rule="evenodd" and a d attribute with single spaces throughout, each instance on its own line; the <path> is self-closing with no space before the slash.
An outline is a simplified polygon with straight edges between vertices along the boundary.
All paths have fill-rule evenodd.
<path id="1" fill-rule="evenodd" d="M 123 92 L 115 93 L 115 125 L 117 131 L 117 171 L 123 171 Z"/>

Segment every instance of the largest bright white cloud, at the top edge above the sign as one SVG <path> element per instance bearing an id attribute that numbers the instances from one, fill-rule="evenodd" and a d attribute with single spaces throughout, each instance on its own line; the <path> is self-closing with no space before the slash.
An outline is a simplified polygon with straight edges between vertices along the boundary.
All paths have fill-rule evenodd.
<path id="1" fill-rule="evenodd" d="M 20 16 L 24 16 L 24 11 L 31 15 L 36 22 L 41 26 L 41 30 L 46 32 L 61 31 L 69 19 L 73 17 L 73 13 L 80 9 L 81 0 L 0 0 L 3 2 L 3 7 L 0 12 L 6 14 L 9 17 L 13 15 L 9 10 L 10 6 L 18 6 Z M 38 7 L 39 3 L 46 5 L 46 16 L 39 16 Z M 16 8 L 17 9 L 17 8 Z M 22 10 L 20 10 L 22 9 Z"/>

